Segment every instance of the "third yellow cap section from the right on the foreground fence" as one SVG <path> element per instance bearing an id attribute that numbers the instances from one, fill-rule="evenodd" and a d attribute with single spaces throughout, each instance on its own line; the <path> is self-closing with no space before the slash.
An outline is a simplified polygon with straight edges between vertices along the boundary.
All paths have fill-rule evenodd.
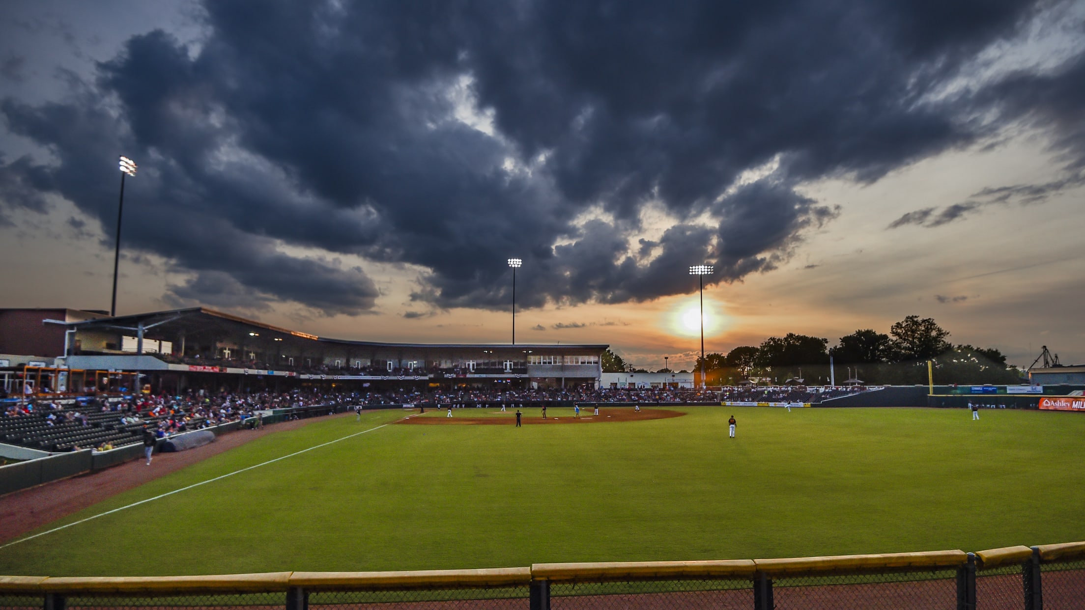
<path id="1" fill-rule="evenodd" d="M 837 557 L 801 557 L 794 559 L 756 559 L 758 572 L 766 574 L 812 574 L 898 570 L 907 568 L 956 568 L 968 561 L 963 550 L 926 552 L 889 552 L 879 555 L 844 555 Z"/>

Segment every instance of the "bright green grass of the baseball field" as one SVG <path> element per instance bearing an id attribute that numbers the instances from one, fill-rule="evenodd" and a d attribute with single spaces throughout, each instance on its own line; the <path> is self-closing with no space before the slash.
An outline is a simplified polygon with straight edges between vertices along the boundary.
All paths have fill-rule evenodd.
<path id="1" fill-rule="evenodd" d="M 0 574 L 495 568 L 1085 539 L 1080 414 L 681 410 L 516 429 L 511 412 L 467 408 L 456 416 L 509 424 L 386 425 L 2 548 Z M 271 434 L 41 531 L 403 416 Z"/>

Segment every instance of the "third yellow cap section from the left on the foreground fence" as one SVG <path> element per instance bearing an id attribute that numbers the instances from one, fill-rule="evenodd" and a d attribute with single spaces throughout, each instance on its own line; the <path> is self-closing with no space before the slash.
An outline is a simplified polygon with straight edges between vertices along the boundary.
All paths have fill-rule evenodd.
<path id="1" fill-rule="evenodd" d="M 294 572 L 290 586 L 305 588 L 437 588 L 526 585 L 529 568 L 418 570 L 408 572 Z"/>

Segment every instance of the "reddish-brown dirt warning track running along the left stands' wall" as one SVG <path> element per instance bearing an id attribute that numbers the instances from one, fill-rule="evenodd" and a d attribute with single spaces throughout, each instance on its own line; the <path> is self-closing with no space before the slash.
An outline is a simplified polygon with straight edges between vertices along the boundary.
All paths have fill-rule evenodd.
<path id="1" fill-rule="evenodd" d="M 354 417 L 354 414 L 329 417 Z M 266 425 L 261 430 L 238 430 L 218 436 L 214 443 L 202 447 L 174 454 L 155 454 L 151 466 L 145 466 L 140 457 L 101 472 L 79 474 L 0 496 L 0 543 L 250 441 L 276 432 L 296 430 L 318 419 L 324 418 L 284 421 Z"/>

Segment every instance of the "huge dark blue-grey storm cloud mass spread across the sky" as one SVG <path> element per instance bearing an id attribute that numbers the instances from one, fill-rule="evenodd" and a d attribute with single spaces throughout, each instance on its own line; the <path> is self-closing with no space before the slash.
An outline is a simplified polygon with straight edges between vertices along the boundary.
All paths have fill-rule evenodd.
<path id="1" fill-rule="evenodd" d="M 980 112 L 1072 123 L 1054 99 L 1080 93 L 1069 75 L 926 98 L 1038 4 L 208 2 L 199 50 L 150 33 L 68 100 L 4 101 L 9 129 L 56 161 L 0 162 L 0 194 L 60 193 L 108 232 L 102 177 L 129 154 L 126 243 L 193 274 L 182 300 L 373 306 L 361 269 L 290 246 L 424 267 L 412 297 L 438 307 L 509 307 L 510 256 L 523 306 L 688 293 L 689 265 L 739 280 L 830 221 L 803 180 L 966 145 Z M 493 136 L 455 118 L 472 99 Z M 648 202 L 675 219 L 654 239 Z"/>

